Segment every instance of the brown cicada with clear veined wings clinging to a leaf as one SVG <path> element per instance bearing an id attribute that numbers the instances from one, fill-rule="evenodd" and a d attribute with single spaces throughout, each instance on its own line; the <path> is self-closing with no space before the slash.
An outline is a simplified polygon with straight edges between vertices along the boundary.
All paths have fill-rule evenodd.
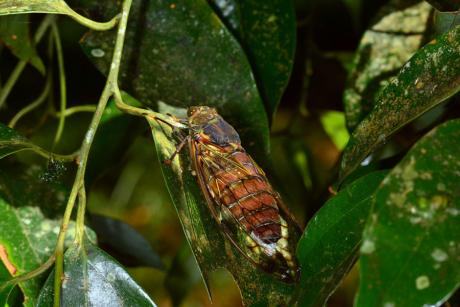
<path id="1" fill-rule="evenodd" d="M 149 115 L 149 114 L 145 114 Z M 241 147 L 235 129 L 214 107 L 190 107 L 189 134 L 175 131 L 181 140 L 169 160 L 188 145 L 194 172 L 211 214 L 222 232 L 248 261 L 263 273 L 281 282 L 295 284 L 301 269 L 295 257 L 297 230 L 302 228 L 268 182 L 265 173 Z"/>

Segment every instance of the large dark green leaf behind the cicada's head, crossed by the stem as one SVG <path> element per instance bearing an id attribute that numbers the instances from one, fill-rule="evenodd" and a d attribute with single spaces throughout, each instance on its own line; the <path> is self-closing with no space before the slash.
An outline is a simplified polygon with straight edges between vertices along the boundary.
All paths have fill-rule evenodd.
<path id="1" fill-rule="evenodd" d="M 75 0 L 93 19 L 120 7 L 111 0 Z M 103 15 L 100 15 L 103 14 Z M 101 72 L 110 68 L 116 31 L 90 32 L 81 46 Z M 268 153 L 268 121 L 249 62 L 238 41 L 205 0 L 134 1 L 128 20 L 120 87 L 157 109 L 162 100 L 179 106 L 212 105 L 255 156 Z"/>

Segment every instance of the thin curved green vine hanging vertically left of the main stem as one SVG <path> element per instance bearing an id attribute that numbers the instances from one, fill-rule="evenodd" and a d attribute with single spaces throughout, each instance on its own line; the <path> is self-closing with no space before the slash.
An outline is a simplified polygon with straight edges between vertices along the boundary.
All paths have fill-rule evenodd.
<path id="1" fill-rule="evenodd" d="M 64 69 L 64 57 L 62 56 L 62 44 L 61 44 L 61 37 L 59 35 L 59 30 L 56 25 L 56 21 L 53 20 L 51 29 L 54 33 L 55 43 L 56 43 L 56 54 L 58 59 L 58 67 L 59 67 L 59 85 L 60 85 L 60 93 L 61 93 L 61 114 L 59 117 L 59 125 L 56 131 L 56 135 L 54 137 L 53 145 L 51 146 L 51 151 L 54 151 L 56 145 L 59 143 L 59 140 L 62 136 L 62 131 L 64 130 L 64 123 L 65 123 L 65 114 L 64 110 L 67 105 L 67 92 L 65 86 L 65 69 Z"/>

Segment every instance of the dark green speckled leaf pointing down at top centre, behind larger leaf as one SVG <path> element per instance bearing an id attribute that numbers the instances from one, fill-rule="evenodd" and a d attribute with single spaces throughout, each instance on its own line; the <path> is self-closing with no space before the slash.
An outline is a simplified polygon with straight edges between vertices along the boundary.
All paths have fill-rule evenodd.
<path id="1" fill-rule="evenodd" d="M 242 44 L 258 81 L 271 119 L 292 70 L 295 52 L 295 13 L 289 0 L 209 1 Z"/>

